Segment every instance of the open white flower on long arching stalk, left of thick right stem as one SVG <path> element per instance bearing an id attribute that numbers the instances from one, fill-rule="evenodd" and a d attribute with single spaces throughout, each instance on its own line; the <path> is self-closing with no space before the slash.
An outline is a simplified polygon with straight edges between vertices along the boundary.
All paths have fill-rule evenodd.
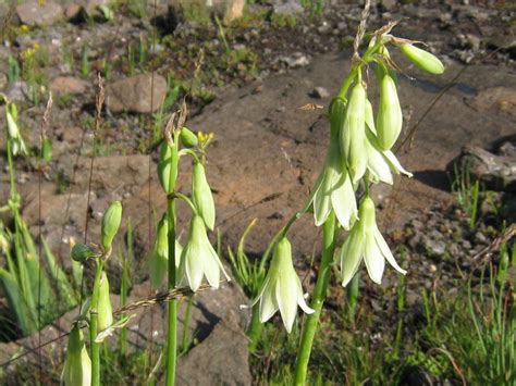
<path id="1" fill-rule="evenodd" d="M 271 265 L 253 306 L 260 302 L 260 322 L 265 323 L 280 310 L 283 325 L 290 333 L 296 319 L 297 306 L 308 314 L 315 312 L 303 296 L 299 276 L 292 263 L 291 242 L 283 237 L 274 248 Z"/>

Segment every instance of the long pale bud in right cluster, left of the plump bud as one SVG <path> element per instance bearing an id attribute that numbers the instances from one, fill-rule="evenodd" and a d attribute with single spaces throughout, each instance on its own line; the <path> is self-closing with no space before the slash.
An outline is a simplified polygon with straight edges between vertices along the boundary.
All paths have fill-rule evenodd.
<path id="1" fill-rule="evenodd" d="M 345 160 L 353 183 L 366 173 L 367 155 L 364 148 L 366 138 L 366 90 L 361 82 L 353 88 L 347 104 L 344 127 L 341 132 L 341 153 Z"/>

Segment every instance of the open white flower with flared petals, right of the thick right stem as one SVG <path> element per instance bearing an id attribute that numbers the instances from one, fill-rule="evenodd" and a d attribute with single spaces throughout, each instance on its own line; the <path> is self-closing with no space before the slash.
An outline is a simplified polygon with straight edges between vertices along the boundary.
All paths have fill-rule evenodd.
<path id="1" fill-rule="evenodd" d="M 349 236 L 341 249 L 342 285 L 345 287 L 360 266 L 366 262 L 371 281 L 381 283 L 385 260 L 400 273 L 406 274 L 394 260 L 388 244 L 378 229 L 374 214 L 374 202 L 366 197 L 358 211 L 359 220 L 353 226 Z"/>

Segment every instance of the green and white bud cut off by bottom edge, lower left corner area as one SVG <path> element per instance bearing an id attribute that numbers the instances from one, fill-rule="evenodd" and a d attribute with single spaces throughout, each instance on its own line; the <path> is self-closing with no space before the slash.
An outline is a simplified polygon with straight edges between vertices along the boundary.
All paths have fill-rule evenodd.
<path id="1" fill-rule="evenodd" d="M 61 383 L 64 386 L 89 386 L 91 384 L 91 360 L 84 344 L 83 332 L 76 324 L 69 335 Z"/>

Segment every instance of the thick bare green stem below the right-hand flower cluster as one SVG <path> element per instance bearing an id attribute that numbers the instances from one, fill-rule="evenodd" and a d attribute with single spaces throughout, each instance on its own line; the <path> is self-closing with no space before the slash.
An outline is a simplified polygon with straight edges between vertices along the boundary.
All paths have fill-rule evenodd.
<path id="1" fill-rule="evenodd" d="M 316 288 L 311 308 L 315 312 L 306 316 L 299 349 L 296 361 L 296 385 L 305 385 L 308 362 L 310 360 L 311 346 L 316 335 L 319 316 L 327 295 L 328 283 L 330 282 L 331 262 L 335 250 L 335 213 L 333 211 L 324 222 L 322 227 L 322 259 L 319 274 L 317 276 Z"/>

